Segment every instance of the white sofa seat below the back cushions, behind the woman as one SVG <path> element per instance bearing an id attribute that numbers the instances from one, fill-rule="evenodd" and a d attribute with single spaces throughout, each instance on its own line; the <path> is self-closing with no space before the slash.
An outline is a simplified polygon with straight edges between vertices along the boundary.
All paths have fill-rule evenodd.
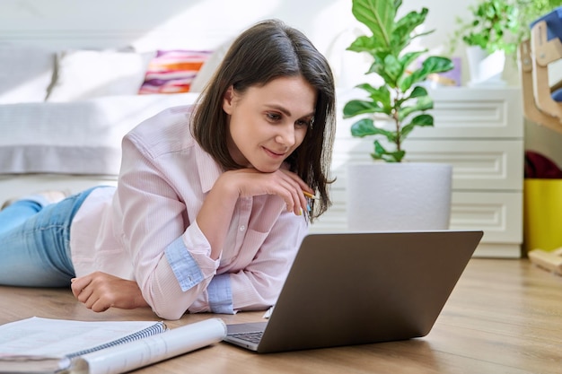
<path id="1" fill-rule="evenodd" d="M 119 173 L 121 139 L 163 109 L 196 93 L 120 95 L 75 102 L 0 106 L 0 174 Z"/>

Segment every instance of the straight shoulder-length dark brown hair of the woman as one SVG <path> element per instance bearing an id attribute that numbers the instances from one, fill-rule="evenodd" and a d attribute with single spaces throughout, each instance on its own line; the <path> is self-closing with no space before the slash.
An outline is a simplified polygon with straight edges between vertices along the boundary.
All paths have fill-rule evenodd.
<path id="1" fill-rule="evenodd" d="M 193 135 L 225 170 L 242 168 L 226 146 L 224 94 L 229 87 L 243 94 L 284 76 L 303 76 L 318 92 L 314 119 L 301 144 L 286 159 L 321 200 L 311 202 L 311 222 L 331 204 L 328 185 L 336 131 L 334 79 L 328 61 L 303 32 L 277 20 L 259 22 L 233 41 L 221 65 L 198 100 L 192 118 Z"/>

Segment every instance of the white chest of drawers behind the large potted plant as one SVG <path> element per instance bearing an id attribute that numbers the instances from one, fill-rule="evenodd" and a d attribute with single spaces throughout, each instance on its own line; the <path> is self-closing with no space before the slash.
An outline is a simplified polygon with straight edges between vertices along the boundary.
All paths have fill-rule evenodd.
<path id="1" fill-rule="evenodd" d="M 358 96 L 359 95 L 359 96 Z M 347 230 L 348 161 L 369 160 L 373 138 L 357 139 L 341 108 L 361 91 L 338 92 L 338 131 L 333 154 L 334 201 L 312 232 Z M 475 257 L 521 257 L 523 115 L 521 91 L 443 88 L 430 91 L 435 126 L 417 128 L 404 147 L 408 161 L 452 164 L 451 229 L 484 230 Z"/>

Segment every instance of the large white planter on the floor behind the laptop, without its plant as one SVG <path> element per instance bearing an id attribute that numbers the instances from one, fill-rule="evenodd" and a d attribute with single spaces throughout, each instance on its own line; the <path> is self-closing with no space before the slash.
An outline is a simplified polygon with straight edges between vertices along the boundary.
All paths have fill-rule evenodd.
<path id="1" fill-rule="evenodd" d="M 442 163 L 351 163 L 347 226 L 351 231 L 448 230 L 452 166 Z"/>

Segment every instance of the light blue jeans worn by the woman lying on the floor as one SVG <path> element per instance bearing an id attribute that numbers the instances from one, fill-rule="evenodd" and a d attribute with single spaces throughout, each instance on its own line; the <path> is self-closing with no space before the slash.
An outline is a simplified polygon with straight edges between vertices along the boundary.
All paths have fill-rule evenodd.
<path id="1" fill-rule="evenodd" d="M 0 284 L 70 285 L 75 276 L 70 225 L 92 189 L 57 204 L 48 204 L 42 196 L 27 196 L 0 211 Z"/>

